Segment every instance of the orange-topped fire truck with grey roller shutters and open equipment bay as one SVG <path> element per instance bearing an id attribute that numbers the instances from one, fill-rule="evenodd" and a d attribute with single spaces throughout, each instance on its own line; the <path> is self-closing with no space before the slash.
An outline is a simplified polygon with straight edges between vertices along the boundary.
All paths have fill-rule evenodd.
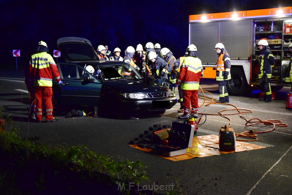
<path id="1" fill-rule="evenodd" d="M 284 86 L 291 52 L 292 7 L 209 13 L 189 16 L 189 44 L 197 46 L 204 78 L 215 78 L 215 44 L 223 43 L 231 59 L 228 94 L 242 96 L 259 86 L 257 77 L 260 51 L 257 43 L 266 39 L 275 59 L 271 89 Z"/>

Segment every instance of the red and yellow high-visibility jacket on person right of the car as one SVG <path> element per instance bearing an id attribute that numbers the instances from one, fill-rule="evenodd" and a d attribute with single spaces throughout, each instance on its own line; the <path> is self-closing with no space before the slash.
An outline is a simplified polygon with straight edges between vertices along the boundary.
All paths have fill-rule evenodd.
<path id="1" fill-rule="evenodd" d="M 201 60 L 193 56 L 187 56 L 180 67 L 177 83 L 180 83 L 180 88 L 183 90 L 198 90 L 202 73 Z"/>

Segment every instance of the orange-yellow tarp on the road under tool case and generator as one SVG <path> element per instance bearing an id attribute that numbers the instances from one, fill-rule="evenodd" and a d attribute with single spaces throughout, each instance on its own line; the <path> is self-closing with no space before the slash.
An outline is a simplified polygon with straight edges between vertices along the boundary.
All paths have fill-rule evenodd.
<path id="1" fill-rule="evenodd" d="M 266 148 L 263 146 L 258 146 L 251 143 L 246 143 L 243 141 L 236 141 L 235 142 L 235 152 L 242 152 L 242 151 L 248 151 L 248 150 L 256 150 L 256 149 L 262 149 Z M 140 148 L 137 146 L 137 144 L 130 145 L 133 148 L 145 151 L 145 152 L 151 152 L 151 149 L 146 148 Z M 220 155 L 220 153 L 233 153 L 231 152 L 222 152 L 219 151 L 219 137 L 218 135 L 204 135 L 204 136 L 198 136 L 193 138 L 192 147 L 187 148 L 187 153 L 179 156 L 173 156 L 173 157 L 166 157 L 166 156 L 160 156 L 155 154 L 157 156 L 160 156 L 162 158 L 171 160 L 171 161 L 182 161 L 187 160 L 195 157 L 205 157 L 205 156 L 214 156 L 214 155 Z"/>

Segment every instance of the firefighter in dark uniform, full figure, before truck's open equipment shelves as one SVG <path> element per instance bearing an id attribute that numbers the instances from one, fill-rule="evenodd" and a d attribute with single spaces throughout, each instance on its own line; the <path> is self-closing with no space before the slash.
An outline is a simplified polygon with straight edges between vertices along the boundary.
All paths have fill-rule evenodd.
<path id="1" fill-rule="evenodd" d="M 263 92 L 263 97 L 259 99 L 259 101 L 271 102 L 271 77 L 272 68 L 275 65 L 274 55 L 270 50 L 267 40 L 260 40 L 258 42 L 258 47 L 260 49 L 258 78 L 260 79 L 260 90 Z"/>

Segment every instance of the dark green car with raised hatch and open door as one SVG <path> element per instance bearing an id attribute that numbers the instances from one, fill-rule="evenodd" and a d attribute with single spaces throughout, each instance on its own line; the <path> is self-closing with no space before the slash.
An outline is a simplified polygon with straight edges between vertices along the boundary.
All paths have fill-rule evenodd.
<path id="1" fill-rule="evenodd" d="M 62 84 L 53 84 L 59 105 L 98 106 L 98 115 L 162 114 L 177 103 L 171 89 L 146 83 L 135 68 L 121 61 L 98 61 L 91 42 L 78 37 L 57 41 L 66 63 L 58 63 Z M 86 67 L 93 67 L 94 72 Z M 100 73 L 97 76 L 97 72 Z"/>

